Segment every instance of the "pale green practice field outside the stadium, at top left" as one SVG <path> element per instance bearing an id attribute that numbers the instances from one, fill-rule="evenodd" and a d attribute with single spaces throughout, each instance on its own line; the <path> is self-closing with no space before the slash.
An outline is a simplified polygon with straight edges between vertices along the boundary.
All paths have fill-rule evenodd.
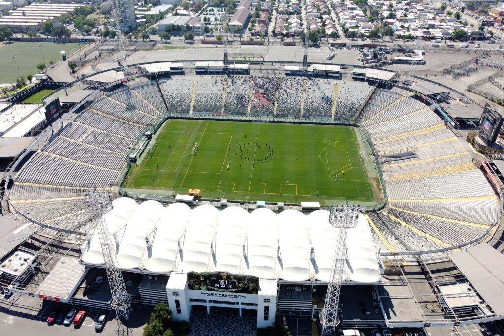
<path id="1" fill-rule="evenodd" d="M 41 45 L 40 48 L 37 45 Z M 80 46 L 83 46 L 81 44 Z M 37 64 L 42 63 L 44 55 L 45 64 L 61 60 L 60 51 L 65 50 L 67 55 L 79 49 L 79 43 L 53 43 L 53 42 L 13 42 L 0 46 L 0 59 L 2 59 L 2 71 L 0 71 L 0 83 L 14 83 L 18 77 L 38 74 Z"/>

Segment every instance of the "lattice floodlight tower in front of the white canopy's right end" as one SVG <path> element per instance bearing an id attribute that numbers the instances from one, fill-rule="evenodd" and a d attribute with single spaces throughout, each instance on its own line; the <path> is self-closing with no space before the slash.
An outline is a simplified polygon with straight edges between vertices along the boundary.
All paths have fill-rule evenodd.
<path id="1" fill-rule="evenodd" d="M 338 238 L 334 251 L 333 271 L 327 287 L 324 309 L 320 313 L 322 334 L 334 331 L 339 324 L 338 306 L 340 301 L 340 288 L 346 258 L 346 240 L 348 229 L 354 228 L 359 220 L 360 205 L 332 205 L 329 210 L 329 223 L 338 229 Z"/>

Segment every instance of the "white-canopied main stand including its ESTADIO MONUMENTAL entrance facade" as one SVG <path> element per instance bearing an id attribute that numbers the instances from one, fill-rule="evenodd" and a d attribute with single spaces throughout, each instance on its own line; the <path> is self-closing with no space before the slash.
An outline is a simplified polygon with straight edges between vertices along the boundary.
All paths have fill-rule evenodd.
<path id="1" fill-rule="evenodd" d="M 144 275 L 141 301 L 167 301 L 174 320 L 188 321 L 193 306 L 205 306 L 208 312 L 227 307 L 240 314 L 257 310 L 258 327 L 266 327 L 273 325 L 277 309 L 314 317 L 323 308 L 313 305 L 312 294 L 322 301 L 338 236 L 327 210 L 276 214 L 259 208 L 249 213 L 235 206 L 191 209 L 184 203 L 165 208 L 158 201 L 138 205 L 121 197 L 103 220 L 116 245 L 118 266 Z M 82 250 L 83 264 L 103 267 L 96 230 Z M 343 280 L 381 283 L 381 266 L 362 214 L 348 232 Z"/>

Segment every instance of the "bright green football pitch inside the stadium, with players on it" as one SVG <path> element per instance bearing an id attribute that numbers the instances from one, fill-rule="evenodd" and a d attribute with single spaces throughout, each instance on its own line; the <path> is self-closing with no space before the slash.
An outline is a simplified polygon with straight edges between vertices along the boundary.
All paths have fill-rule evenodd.
<path id="1" fill-rule="evenodd" d="M 152 143 L 124 180 L 129 192 L 195 188 L 207 198 L 321 204 L 383 198 L 351 126 L 171 119 Z"/>

